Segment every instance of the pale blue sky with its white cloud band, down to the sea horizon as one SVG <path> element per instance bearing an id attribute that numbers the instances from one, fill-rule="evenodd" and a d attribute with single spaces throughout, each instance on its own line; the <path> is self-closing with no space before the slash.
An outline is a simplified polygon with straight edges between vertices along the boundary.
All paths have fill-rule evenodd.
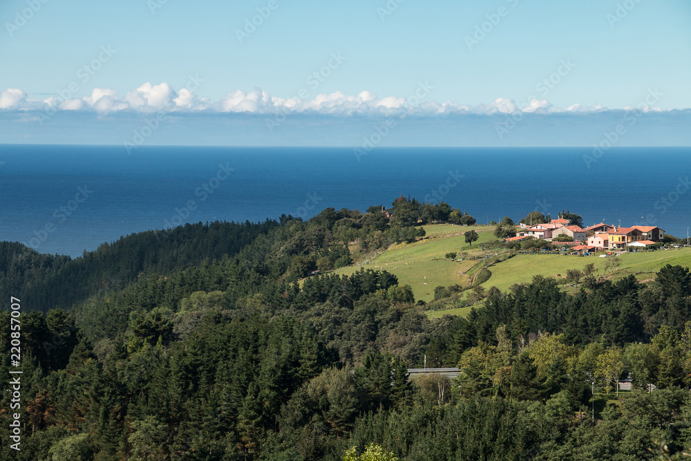
<path id="1" fill-rule="evenodd" d="M 633 108 L 620 145 L 691 143 L 688 0 L 5 0 L 0 19 L 0 142 L 123 143 L 165 113 L 147 143 L 357 145 L 393 118 L 381 145 L 589 146 Z"/>

